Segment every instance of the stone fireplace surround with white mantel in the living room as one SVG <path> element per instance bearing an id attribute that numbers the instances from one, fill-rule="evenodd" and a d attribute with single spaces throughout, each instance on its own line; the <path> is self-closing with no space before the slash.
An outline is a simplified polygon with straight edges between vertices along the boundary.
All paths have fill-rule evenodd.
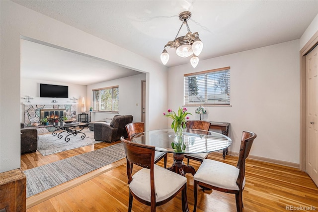
<path id="1" fill-rule="evenodd" d="M 23 103 L 23 105 L 24 123 L 31 126 L 31 123 L 40 123 L 40 119 L 43 118 L 41 117 L 43 109 L 45 111 L 58 111 L 59 116 L 66 115 L 68 118 L 76 118 L 78 103 Z M 43 114 L 42 111 L 42 116 Z"/>

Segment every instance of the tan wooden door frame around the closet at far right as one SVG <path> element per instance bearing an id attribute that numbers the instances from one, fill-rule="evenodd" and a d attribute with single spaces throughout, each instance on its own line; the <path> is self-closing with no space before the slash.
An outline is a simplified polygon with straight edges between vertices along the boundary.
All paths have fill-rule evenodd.
<path id="1" fill-rule="evenodd" d="M 300 50 L 300 163 L 306 171 L 306 55 L 318 44 L 318 31 Z"/>

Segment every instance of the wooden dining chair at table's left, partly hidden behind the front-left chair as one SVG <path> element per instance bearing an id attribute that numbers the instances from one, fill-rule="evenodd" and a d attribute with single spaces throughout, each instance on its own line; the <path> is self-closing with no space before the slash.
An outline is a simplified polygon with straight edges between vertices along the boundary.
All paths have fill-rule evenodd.
<path id="1" fill-rule="evenodd" d="M 128 123 L 128 124 L 126 124 L 125 127 L 127 130 L 128 139 L 130 141 L 131 141 L 133 136 L 136 136 L 138 133 L 142 133 L 145 131 L 145 123 L 144 122 Z M 166 168 L 167 167 L 167 153 L 155 151 L 155 164 L 158 163 L 162 158 L 163 158 L 163 162 L 164 162 L 164 168 Z"/>

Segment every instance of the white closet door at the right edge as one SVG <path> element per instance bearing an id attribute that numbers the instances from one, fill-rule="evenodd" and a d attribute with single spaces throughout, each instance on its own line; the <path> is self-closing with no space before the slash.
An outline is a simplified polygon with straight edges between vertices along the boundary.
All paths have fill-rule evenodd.
<path id="1" fill-rule="evenodd" d="M 306 56 L 306 172 L 318 186 L 318 47 Z"/>

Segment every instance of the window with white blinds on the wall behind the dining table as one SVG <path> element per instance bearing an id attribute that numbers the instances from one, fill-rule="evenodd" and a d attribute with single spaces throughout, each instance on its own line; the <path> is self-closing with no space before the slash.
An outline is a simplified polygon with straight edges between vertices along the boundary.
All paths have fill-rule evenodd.
<path id="1" fill-rule="evenodd" d="M 230 105 L 230 67 L 185 74 L 184 105 Z"/>

